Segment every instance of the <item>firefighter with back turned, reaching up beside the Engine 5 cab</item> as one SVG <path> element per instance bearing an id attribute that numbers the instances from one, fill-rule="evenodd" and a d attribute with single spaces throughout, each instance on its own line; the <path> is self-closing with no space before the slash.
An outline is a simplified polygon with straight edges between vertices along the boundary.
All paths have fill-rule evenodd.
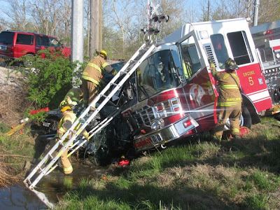
<path id="1" fill-rule="evenodd" d="M 214 129 L 214 140 L 221 142 L 223 127 L 230 118 L 230 130 L 234 139 L 240 139 L 239 117 L 241 116 L 242 97 L 240 82 L 235 70 L 238 70 L 235 60 L 228 58 L 225 62 L 225 71 L 216 71 L 215 64 L 210 62 L 210 70 L 214 78 L 218 80 L 219 96 L 217 104 L 218 124 Z"/>

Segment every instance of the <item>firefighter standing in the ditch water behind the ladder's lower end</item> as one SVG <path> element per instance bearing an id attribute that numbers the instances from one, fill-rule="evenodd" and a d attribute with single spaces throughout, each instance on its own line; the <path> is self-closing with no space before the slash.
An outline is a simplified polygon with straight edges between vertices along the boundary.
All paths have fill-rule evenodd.
<path id="1" fill-rule="evenodd" d="M 45 155 L 48 154 L 50 149 L 53 146 L 55 146 L 56 141 L 59 141 L 60 139 L 62 139 L 63 134 L 65 132 L 67 132 L 67 130 L 69 130 L 71 128 L 71 126 L 73 125 L 73 123 L 76 121 L 76 118 L 77 118 L 76 114 L 73 113 L 70 104 L 67 104 L 67 103 L 60 104 L 59 109 L 62 112 L 62 118 L 59 121 L 59 124 L 57 126 L 57 135 L 56 135 L 57 138 L 51 144 L 48 144 L 46 146 L 45 152 L 40 157 L 41 160 L 43 160 L 43 158 L 45 157 Z M 80 123 L 78 123 L 78 125 L 75 127 L 74 130 L 76 130 L 77 132 L 80 132 L 80 131 L 78 131 L 79 127 L 80 127 Z M 87 133 L 86 130 L 83 130 L 82 134 L 85 137 L 85 139 L 87 139 L 87 140 L 89 139 L 89 134 Z M 64 145 L 71 138 L 71 135 L 72 135 L 72 133 L 70 132 L 70 134 L 66 137 L 66 139 L 64 139 L 64 141 L 62 142 Z M 73 144 L 69 145 L 69 148 L 72 145 Z M 59 148 L 57 150 L 60 150 L 61 148 L 62 148 L 62 146 L 59 146 Z M 73 167 L 71 165 L 71 162 L 67 158 L 69 148 L 67 148 L 64 151 L 64 153 L 62 153 L 62 155 L 60 156 L 60 158 L 62 160 L 64 174 L 71 174 L 73 172 Z"/>

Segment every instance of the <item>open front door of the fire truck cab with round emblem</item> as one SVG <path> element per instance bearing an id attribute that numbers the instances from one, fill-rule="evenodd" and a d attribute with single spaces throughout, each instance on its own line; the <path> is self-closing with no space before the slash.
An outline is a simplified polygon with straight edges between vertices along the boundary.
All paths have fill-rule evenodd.
<path id="1" fill-rule="evenodd" d="M 202 44 L 195 31 L 191 31 L 177 46 L 186 79 L 182 94 L 186 102 L 183 103 L 183 109 L 190 111 L 203 130 L 207 129 L 209 125 L 215 125 L 213 110 L 216 95 L 202 55 Z"/>

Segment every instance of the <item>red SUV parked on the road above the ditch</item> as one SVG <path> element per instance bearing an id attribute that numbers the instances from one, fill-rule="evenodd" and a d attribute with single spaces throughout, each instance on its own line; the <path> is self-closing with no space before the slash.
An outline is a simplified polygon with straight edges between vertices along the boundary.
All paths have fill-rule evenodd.
<path id="1" fill-rule="evenodd" d="M 3 59 L 35 55 L 45 48 L 62 50 L 65 57 L 71 55 L 71 48 L 62 45 L 54 36 L 28 31 L 2 31 L 0 34 L 0 57 Z"/>

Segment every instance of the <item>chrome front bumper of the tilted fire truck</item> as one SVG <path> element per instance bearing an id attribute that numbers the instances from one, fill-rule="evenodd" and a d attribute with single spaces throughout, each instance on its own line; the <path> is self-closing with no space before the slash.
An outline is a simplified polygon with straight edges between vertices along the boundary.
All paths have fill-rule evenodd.
<path id="1" fill-rule="evenodd" d="M 191 116 L 185 116 L 176 123 L 162 127 L 160 130 L 155 130 L 152 133 L 135 137 L 134 148 L 137 151 L 154 148 L 160 144 L 179 139 L 183 134 L 186 134 L 197 126 L 198 123 Z"/>

